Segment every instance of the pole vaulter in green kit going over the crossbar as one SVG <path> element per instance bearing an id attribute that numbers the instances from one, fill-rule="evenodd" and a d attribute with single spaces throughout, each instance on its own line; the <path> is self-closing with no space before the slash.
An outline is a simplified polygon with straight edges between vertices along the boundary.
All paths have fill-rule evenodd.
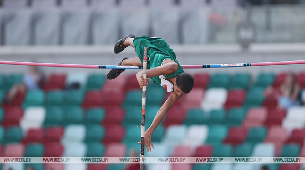
<path id="1" fill-rule="evenodd" d="M 135 65 L 143 66 L 144 47 L 147 47 L 147 78 L 154 80 L 156 84 L 160 84 L 171 92 L 163 106 L 158 111 L 153 123 L 145 131 L 145 145 L 147 152 L 151 152 L 151 134 L 153 134 L 156 127 L 160 124 L 169 109 L 174 103 L 182 97 L 182 95 L 189 93 L 194 86 L 194 78 L 184 73 L 179 62 L 176 60 L 174 51 L 169 45 L 160 38 L 152 37 L 136 37 L 129 35 L 114 45 L 114 53 L 123 51 L 128 46 L 132 46 L 136 51 L 138 57 L 123 58 L 118 65 Z M 124 69 L 112 69 L 109 71 L 107 78 L 114 79 L 121 74 Z M 137 73 L 136 78 L 140 87 L 148 85 L 148 79 L 143 78 L 143 71 Z"/>

